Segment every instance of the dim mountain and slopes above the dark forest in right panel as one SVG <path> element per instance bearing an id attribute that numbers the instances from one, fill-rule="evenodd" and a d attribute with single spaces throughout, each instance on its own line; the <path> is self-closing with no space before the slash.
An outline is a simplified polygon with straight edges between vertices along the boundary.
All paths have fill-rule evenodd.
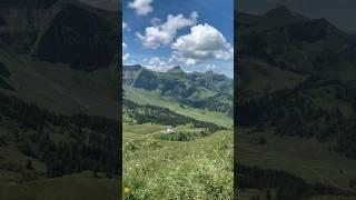
<path id="1" fill-rule="evenodd" d="M 327 112 L 354 104 L 355 36 L 286 7 L 263 16 L 238 11 L 237 19 L 238 102 L 285 96 L 284 104 L 303 99 L 300 104 Z"/>

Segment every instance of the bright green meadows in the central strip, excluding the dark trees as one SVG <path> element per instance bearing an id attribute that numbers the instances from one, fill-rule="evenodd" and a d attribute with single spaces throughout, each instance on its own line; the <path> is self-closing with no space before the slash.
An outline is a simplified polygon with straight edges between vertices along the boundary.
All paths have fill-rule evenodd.
<path id="1" fill-rule="evenodd" d="M 125 88 L 126 94 L 139 91 Z M 142 93 L 144 91 L 139 91 Z M 145 91 L 147 92 L 147 91 Z M 147 92 L 141 96 L 146 102 L 170 108 L 184 113 L 185 108 Z M 132 98 L 134 99 L 134 98 Z M 137 100 L 139 101 L 139 100 Z M 179 112 L 180 111 L 180 112 Z M 233 124 L 228 117 L 218 118 L 221 113 L 191 109 L 186 113 L 197 120 L 216 124 Z M 205 116 L 200 119 L 200 116 Z M 220 120 L 215 120 L 220 119 Z M 144 123 L 137 124 L 134 119 L 123 114 L 123 196 L 129 199 L 233 199 L 233 130 L 221 130 L 207 137 L 192 138 L 189 141 L 167 141 L 160 136 L 196 134 L 204 128 L 192 124 L 180 124 L 174 133 L 167 133 L 167 126 Z"/>

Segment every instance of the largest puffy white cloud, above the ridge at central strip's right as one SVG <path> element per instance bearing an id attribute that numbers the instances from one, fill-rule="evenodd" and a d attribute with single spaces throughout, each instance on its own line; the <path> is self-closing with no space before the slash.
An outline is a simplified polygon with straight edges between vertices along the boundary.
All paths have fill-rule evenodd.
<path id="1" fill-rule="evenodd" d="M 229 60 L 234 57 L 231 44 L 221 32 L 207 23 L 192 27 L 190 33 L 179 37 L 171 48 L 172 57 L 187 66 L 210 59 Z"/>

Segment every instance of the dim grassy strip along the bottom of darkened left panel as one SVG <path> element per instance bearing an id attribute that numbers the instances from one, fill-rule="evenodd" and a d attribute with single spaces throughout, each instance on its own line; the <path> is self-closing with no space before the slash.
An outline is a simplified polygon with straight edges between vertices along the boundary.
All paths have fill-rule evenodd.
<path id="1" fill-rule="evenodd" d="M 68 187 L 70 186 L 70 187 Z M 78 192 L 86 191 L 86 192 Z M 24 183 L 0 181 L 0 199 L 8 200 L 68 200 L 117 199 L 117 180 L 93 178 L 83 172 L 60 178 L 42 179 Z"/>

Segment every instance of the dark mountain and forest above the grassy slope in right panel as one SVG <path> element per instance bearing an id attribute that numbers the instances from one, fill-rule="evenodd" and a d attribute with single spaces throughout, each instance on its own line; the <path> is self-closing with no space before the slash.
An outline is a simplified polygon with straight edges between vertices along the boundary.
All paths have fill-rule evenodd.
<path id="1" fill-rule="evenodd" d="M 346 139 L 356 127 L 356 37 L 285 7 L 236 14 L 238 123 L 336 141 L 356 158 Z"/>

